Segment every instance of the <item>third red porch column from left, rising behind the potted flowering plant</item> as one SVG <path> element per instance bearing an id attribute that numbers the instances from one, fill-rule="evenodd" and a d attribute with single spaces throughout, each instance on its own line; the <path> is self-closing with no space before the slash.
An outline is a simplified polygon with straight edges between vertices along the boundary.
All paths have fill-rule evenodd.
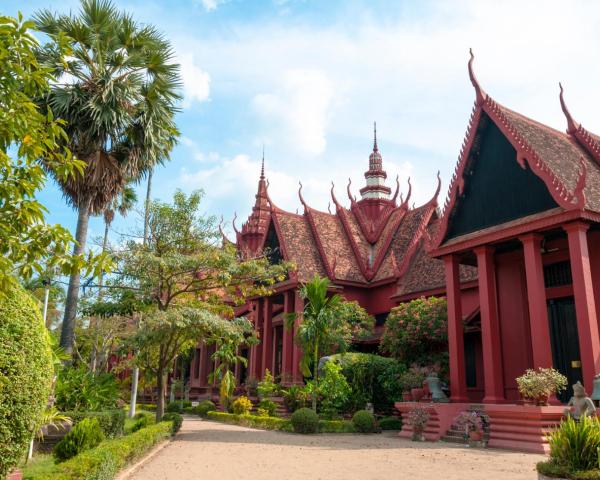
<path id="1" fill-rule="evenodd" d="M 543 236 L 528 233 L 519 239 L 523 243 L 523 255 L 525 257 L 533 367 L 550 368 L 552 366 L 552 346 L 548 324 L 548 307 L 546 305 L 544 267 L 542 265 L 541 244 Z"/>

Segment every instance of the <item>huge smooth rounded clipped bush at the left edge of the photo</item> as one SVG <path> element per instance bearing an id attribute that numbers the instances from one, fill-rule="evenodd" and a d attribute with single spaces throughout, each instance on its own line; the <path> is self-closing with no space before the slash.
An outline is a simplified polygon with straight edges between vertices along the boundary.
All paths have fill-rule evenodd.
<path id="1" fill-rule="evenodd" d="M 19 286 L 0 298 L 0 478 L 23 457 L 48 403 L 52 352 L 35 301 Z"/>

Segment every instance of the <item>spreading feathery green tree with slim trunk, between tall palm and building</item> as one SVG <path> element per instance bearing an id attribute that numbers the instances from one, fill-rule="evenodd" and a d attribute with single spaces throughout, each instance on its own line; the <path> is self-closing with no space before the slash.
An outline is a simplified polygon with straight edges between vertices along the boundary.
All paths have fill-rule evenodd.
<path id="1" fill-rule="evenodd" d="M 215 219 L 199 214 L 201 198 L 200 192 L 177 192 L 172 204 L 152 202 L 147 242 L 129 241 L 115 252 L 113 286 L 149 305 L 131 345 L 137 363 L 156 375 L 158 418 L 174 359 L 200 340 L 217 345 L 224 362 L 217 375 L 224 392 L 231 388 L 235 352 L 252 330 L 245 319 L 232 321 L 234 306 L 270 293 L 289 269 L 265 257 L 240 260 L 235 247 L 221 245 Z"/>

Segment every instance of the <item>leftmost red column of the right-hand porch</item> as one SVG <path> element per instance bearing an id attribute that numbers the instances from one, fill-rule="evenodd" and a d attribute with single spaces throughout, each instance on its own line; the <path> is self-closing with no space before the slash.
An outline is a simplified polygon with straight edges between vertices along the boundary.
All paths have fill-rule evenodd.
<path id="1" fill-rule="evenodd" d="M 444 257 L 448 301 L 448 353 L 450 360 L 450 399 L 468 402 L 465 373 L 465 338 L 460 303 L 460 277 L 456 255 Z"/>

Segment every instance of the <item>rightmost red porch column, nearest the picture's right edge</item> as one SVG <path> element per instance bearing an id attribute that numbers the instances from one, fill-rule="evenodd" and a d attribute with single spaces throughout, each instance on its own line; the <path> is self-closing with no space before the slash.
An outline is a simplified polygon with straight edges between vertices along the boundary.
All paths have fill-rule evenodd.
<path id="1" fill-rule="evenodd" d="M 569 256 L 573 276 L 573 295 L 579 333 L 579 350 L 583 381 L 588 389 L 592 388 L 594 375 L 600 371 L 600 338 L 594 303 L 594 288 L 590 267 L 590 255 L 587 243 L 589 224 L 569 223 L 563 227 L 569 238 Z"/>

